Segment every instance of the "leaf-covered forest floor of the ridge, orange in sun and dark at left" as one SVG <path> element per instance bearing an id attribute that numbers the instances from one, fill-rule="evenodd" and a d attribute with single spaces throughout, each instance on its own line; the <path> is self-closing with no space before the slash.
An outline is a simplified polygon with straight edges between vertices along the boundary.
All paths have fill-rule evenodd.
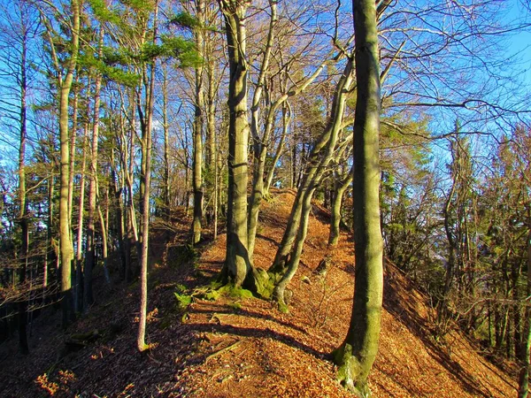
<path id="1" fill-rule="evenodd" d="M 294 194 L 265 203 L 255 265 L 267 268 L 281 241 Z M 96 304 L 66 331 L 60 311 L 35 319 L 31 354 L 17 336 L 0 346 L 0 396 L 348 397 L 330 353 L 347 333 L 353 295 L 353 243 L 342 233 L 325 276 L 328 214 L 314 206 L 302 262 L 289 288 L 289 313 L 258 298 L 186 296 L 208 285 L 225 257 L 225 235 L 197 251 L 186 246 L 189 220 L 159 226 L 151 240 L 150 350 L 136 350 L 137 283 L 100 288 Z M 172 239 L 168 239 L 168 237 Z M 95 285 L 103 283 L 103 277 Z M 177 294 L 177 295 L 175 295 Z M 181 305 L 178 300 L 181 297 Z M 80 337 L 81 336 L 81 337 Z M 385 266 L 374 397 L 512 397 L 514 364 L 489 362 L 455 328 L 435 338 L 427 296 Z"/>

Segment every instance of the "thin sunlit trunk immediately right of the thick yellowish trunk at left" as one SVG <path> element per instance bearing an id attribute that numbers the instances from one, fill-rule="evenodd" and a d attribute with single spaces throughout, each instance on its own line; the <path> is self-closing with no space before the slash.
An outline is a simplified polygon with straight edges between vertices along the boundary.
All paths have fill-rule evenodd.
<path id="1" fill-rule="evenodd" d="M 76 311 L 81 312 L 83 310 L 83 220 L 85 213 L 85 169 L 87 166 L 87 146 L 89 145 L 89 123 L 85 122 L 83 128 L 83 157 L 81 160 L 81 172 L 80 172 L 80 202 L 79 202 L 79 214 L 78 214 L 78 231 L 77 231 L 77 245 L 75 254 L 75 297 L 74 308 Z"/>

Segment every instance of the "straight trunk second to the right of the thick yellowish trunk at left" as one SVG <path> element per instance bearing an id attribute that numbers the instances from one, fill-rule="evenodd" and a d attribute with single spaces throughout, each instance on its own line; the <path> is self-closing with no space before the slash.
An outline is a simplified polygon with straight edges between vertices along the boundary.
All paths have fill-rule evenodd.
<path id="1" fill-rule="evenodd" d="M 99 33 L 99 57 L 102 56 L 104 42 L 104 30 L 100 27 Z M 96 196 L 97 196 L 97 155 L 99 141 L 99 114 L 101 102 L 102 75 L 96 71 L 94 86 L 94 115 L 92 118 L 92 147 L 90 149 L 90 174 L 89 174 L 89 211 L 87 214 L 87 247 L 85 269 L 83 270 L 83 310 L 89 310 L 94 303 L 92 291 L 92 271 L 96 266 Z"/>

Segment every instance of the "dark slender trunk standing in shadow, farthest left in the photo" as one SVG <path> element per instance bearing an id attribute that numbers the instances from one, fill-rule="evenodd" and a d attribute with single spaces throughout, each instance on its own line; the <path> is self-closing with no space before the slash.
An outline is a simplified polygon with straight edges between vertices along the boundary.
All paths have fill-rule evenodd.
<path id="1" fill-rule="evenodd" d="M 21 18 L 23 16 L 21 15 Z M 24 27 L 23 27 L 24 28 Z M 29 231 L 27 222 L 26 198 L 26 140 L 27 140 L 27 32 L 22 33 L 22 47 L 20 49 L 20 135 L 19 135 L 19 223 L 20 223 L 20 270 L 19 284 L 25 289 L 27 264 L 29 256 Z M 29 353 L 27 345 L 27 300 L 24 297 L 19 302 L 19 350 L 23 354 Z"/>

